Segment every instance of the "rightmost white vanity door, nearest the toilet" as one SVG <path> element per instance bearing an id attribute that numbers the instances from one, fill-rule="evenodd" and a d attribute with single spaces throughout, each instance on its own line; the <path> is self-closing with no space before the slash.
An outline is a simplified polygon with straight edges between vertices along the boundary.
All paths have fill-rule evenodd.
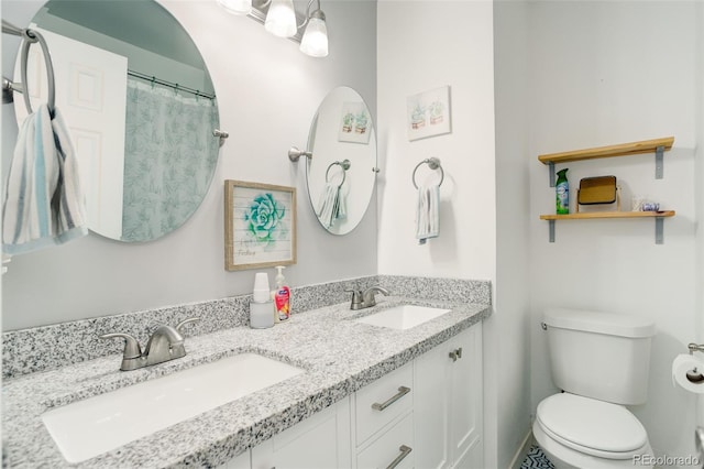
<path id="1" fill-rule="evenodd" d="M 473 326 L 452 340 L 462 357 L 452 362 L 450 441 L 454 468 L 483 467 L 482 327 Z"/>

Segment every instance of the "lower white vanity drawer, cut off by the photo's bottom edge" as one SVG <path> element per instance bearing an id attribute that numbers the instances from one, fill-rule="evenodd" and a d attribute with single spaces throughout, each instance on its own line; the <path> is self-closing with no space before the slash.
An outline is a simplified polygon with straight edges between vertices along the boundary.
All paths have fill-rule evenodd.
<path id="1" fill-rule="evenodd" d="M 413 413 L 406 415 L 385 434 L 356 456 L 356 469 L 414 467 L 414 419 Z"/>

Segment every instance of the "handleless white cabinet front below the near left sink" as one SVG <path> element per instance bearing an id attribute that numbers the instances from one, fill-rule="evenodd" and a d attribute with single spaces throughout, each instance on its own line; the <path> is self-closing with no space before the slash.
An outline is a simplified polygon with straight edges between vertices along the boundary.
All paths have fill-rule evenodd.
<path id="1" fill-rule="evenodd" d="M 349 469 L 349 403 L 345 397 L 252 448 L 252 469 Z"/>

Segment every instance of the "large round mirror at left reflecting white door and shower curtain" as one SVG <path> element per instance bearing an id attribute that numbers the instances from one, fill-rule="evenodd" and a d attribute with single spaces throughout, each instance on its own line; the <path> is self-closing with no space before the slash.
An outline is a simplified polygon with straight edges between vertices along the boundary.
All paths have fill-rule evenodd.
<path id="1" fill-rule="evenodd" d="M 219 152 L 212 81 L 188 33 L 153 0 L 50 0 L 30 28 L 52 54 L 91 231 L 132 242 L 180 227 L 205 198 Z M 18 54 L 18 83 L 20 72 Z M 46 81 L 34 45 L 33 109 L 46 102 Z M 14 102 L 22 121 L 24 101 Z"/>

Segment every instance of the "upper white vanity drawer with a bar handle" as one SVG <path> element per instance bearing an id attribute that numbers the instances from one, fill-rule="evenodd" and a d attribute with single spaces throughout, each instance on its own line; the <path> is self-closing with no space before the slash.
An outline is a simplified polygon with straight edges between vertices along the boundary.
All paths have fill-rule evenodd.
<path id="1" fill-rule="evenodd" d="M 413 363 L 408 363 L 356 392 L 358 446 L 413 408 Z"/>

